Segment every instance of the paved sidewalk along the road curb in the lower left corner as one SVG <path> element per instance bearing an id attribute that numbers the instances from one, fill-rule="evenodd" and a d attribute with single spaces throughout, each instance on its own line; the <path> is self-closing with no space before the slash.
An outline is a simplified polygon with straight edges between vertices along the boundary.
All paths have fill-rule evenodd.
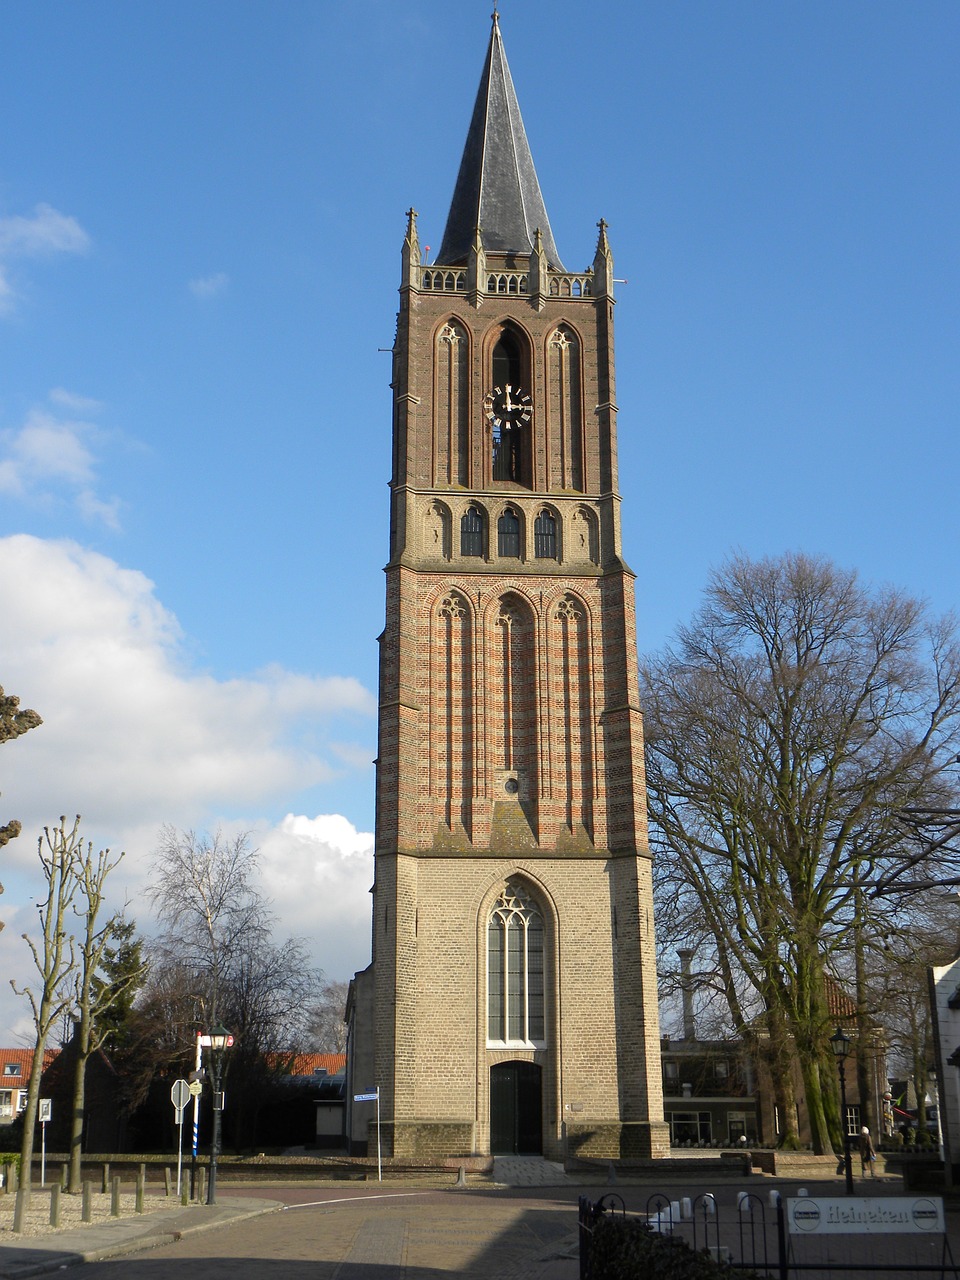
<path id="1" fill-rule="evenodd" d="M 0 1235 L 0 1280 L 26 1280 L 27 1276 L 59 1271 L 77 1262 L 99 1262 L 159 1244 L 173 1244 L 184 1235 L 227 1222 L 242 1222 L 280 1208 L 280 1201 L 220 1196 L 216 1204 L 177 1204 L 47 1235 L 4 1231 Z"/>

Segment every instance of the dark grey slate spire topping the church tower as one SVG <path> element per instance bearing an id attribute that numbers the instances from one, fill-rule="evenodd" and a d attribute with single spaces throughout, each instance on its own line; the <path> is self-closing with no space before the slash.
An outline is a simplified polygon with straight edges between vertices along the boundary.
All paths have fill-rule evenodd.
<path id="1" fill-rule="evenodd" d="M 451 266 L 466 262 L 477 227 L 488 253 L 530 253 L 539 230 L 548 262 L 563 270 L 536 180 L 495 10 L 490 47 L 436 261 Z"/>

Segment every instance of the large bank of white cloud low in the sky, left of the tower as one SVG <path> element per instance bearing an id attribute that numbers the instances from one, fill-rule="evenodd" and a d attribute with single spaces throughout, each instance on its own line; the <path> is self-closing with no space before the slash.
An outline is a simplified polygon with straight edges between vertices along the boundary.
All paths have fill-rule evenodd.
<path id="1" fill-rule="evenodd" d="M 22 983 L 29 973 L 19 933 L 32 924 L 26 904 L 38 891 L 37 835 L 74 813 L 95 846 L 127 851 L 111 888 L 116 905 L 131 900 L 141 925 L 161 824 L 248 827 L 282 931 L 305 934 L 329 977 L 369 961 L 372 837 L 338 815 L 288 814 L 276 826 L 257 817 L 320 783 L 356 777 L 344 763 L 353 756 L 370 772 L 376 708 L 369 690 L 278 666 L 227 681 L 198 672 L 154 584 L 70 541 L 0 539 L 0 681 L 44 717 L 0 760 L 0 815 L 23 822 L 20 838 L 4 849 L 0 877 L 5 978 Z M 369 745 L 344 746 L 344 739 Z M 23 1016 L 12 1001 L 0 983 L 0 1043 Z"/>

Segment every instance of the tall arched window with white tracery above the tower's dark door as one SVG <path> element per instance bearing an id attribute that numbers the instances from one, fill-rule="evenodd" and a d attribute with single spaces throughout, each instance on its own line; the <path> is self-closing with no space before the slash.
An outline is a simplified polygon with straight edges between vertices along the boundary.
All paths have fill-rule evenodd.
<path id="1" fill-rule="evenodd" d="M 486 1037 L 538 1044 L 545 1036 L 544 924 L 517 881 L 508 881 L 486 925 Z"/>

